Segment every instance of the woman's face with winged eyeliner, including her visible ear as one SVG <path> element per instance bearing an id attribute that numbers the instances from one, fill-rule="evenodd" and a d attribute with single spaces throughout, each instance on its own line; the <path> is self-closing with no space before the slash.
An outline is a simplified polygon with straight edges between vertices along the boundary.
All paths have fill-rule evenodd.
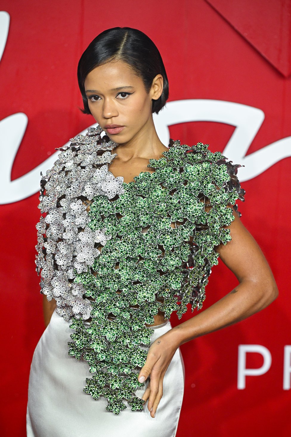
<path id="1" fill-rule="evenodd" d="M 140 132 L 146 135 L 152 121 L 152 98 L 160 97 L 163 77 L 158 74 L 149 93 L 142 79 L 123 61 L 107 62 L 86 76 L 85 92 L 97 123 L 116 143 L 128 142 Z M 123 126 L 110 129 L 107 125 Z"/>

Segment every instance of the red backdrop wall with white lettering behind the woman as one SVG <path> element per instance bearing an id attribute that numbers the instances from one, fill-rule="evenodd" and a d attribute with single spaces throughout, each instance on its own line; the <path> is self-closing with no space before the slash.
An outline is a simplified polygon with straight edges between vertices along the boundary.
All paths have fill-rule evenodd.
<path id="1" fill-rule="evenodd" d="M 238 201 L 242 221 L 279 288 L 264 311 L 181 346 L 186 382 L 177 437 L 291 435 L 288 348 L 284 367 L 291 344 L 290 0 L 0 0 L 0 10 L 1 435 L 25 435 L 31 358 L 44 331 L 34 264 L 40 170 L 55 160 L 55 147 L 95 122 L 78 109 L 77 63 L 96 35 L 115 26 L 144 31 L 161 52 L 170 98 L 157 127 L 168 117 L 171 138 L 208 143 L 245 164 L 238 173 L 246 190 L 245 203 Z M 204 308 L 237 283 L 220 260 Z M 181 322 L 192 316 L 189 309 Z M 179 323 L 175 314 L 171 323 Z M 244 389 L 239 345 L 261 345 L 271 357 L 269 370 L 246 376 Z M 248 352 L 246 368 L 266 360 Z"/>

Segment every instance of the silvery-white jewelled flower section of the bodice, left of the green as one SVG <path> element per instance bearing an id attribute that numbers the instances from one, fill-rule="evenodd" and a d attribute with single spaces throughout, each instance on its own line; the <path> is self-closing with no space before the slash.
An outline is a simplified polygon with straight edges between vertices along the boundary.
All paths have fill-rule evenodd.
<path id="1" fill-rule="evenodd" d="M 104 227 L 88 228 L 88 205 L 94 196 L 113 198 L 124 191 L 123 178 L 108 171 L 116 144 L 101 138 L 101 132 L 89 128 L 86 136 L 71 138 L 71 144 L 57 149 L 61 153 L 53 167 L 41 173 L 36 270 L 41 271 L 42 294 L 55 298 L 57 313 L 67 321 L 73 315 L 89 318 L 92 304 L 83 298 L 85 290 L 74 282 L 75 274 L 88 271 L 99 256 L 98 244 L 110 238 Z"/>

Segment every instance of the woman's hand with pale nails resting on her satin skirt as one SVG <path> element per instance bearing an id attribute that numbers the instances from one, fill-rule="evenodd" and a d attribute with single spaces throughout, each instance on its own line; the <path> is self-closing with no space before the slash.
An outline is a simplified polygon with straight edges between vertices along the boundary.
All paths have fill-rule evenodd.
<path id="1" fill-rule="evenodd" d="M 145 402 L 148 399 L 147 408 L 151 412 L 151 417 L 156 414 L 157 406 L 163 395 L 164 374 L 178 347 L 179 344 L 173 341 L 171 330 L 158 337 L 151 344 L 147 360 L 138 375 L 139 382 L 144 382 L 150 376 L 150 381 L 141 399 Z"/>

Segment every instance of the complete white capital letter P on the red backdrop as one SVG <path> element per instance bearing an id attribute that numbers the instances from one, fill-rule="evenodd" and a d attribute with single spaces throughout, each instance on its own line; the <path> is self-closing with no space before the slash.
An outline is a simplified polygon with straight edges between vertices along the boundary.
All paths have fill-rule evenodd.
<path id="1" fill-rule="evenodd" d="M 264 358 L 264 363 L 256 369 L 246 368 L 246 354 L 256 352 Z M 272 363 L 270 350 L 260 344 L 240 344 L 238 349 L 238 364 L 237 364 L 237 388 L 243 390 L 246 388 L 246 376 L 260 376 L 267 373 Z M 289 371 L 291 369 L 289 368 Z"/>

